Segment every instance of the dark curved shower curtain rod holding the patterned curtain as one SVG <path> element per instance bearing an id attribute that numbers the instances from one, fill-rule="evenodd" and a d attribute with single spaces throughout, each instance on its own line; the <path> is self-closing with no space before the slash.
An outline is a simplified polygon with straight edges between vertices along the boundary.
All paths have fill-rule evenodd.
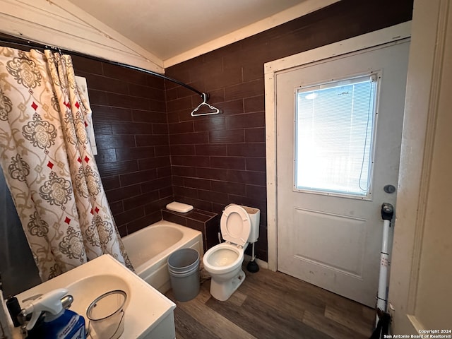
<path id="1" fill-rule="evenodd" d="M 18 39 L 18 40 L 16 40 L 16 39 Z M 70 50 L 67 50 L 67 49 L 61 49 L 59 47 L 50 46 L 48 44 L 42 44 L 40 42 L 34 42 L 34 41 L 31 41 L 31 40 L 22 40 L 20 38 L 16 38 L 16 39 L 13 38 L 13 37 L 11 37 L 11 38 L 10 37 L 5 37 L 4 35 L 0 36 L 0 42 L 6 42 L 8 44 L 16 44 L 16 45 L 22 46 L 22 47 L 34 47 L 34 48 L 38 48 L 38 49 L 54 49 L 54 50 L 57 50 L 57 51 L 59 51 L 61 53 L 64 53 L 64 54 L 73 54 L 73 55 L 76 55 L 77 57 L 85 57 L 85 58 L 92 59 L 92 60 L 95 60 L 95 61 L 102 61 L 102 62 L 106 62 L 107 64 L 112 64 L 112 65 L 116 65 L 116 66 L 122 66 L 122 67 L 126 67 L 128 69 L 134 69 L 136 71 L 141 71 L 141 72 L 144 72 L 144 73 L 148 73 L 150 75 L 157 76 L 158 78 L 163 78 L 163 79 L 165 79 L 167 81 L 171 81 L 172 83 L 177 83 L 178 85 L 181 85 L 184 88 L 187 88 L 187 89 L 193 91 L 194 93 L 197 93 L 198 95 L 200 95 L 203 98 L 203 103 L 205 103 L 206 100 L 208 100 L 208 98 L 209 98 L 208 93 L 203 93 L 203 92 L 201 92 L 199 90 L 196 90 L 196 88 L 191 87 L 191 85 L 187 85 L 186 83 L 183 83 L 182 81 L 176 80 L 174 78 L 170 78 L 169 76 L 165 76 L 164 74 L 160 74 L 160 73 L 157 73 L 157 72 L 154 72 L 154 71 L 149 71 L 148 69 L 142 69 L 141 67 L 131 66 L 131 65 L 128 65 L 128 64 L 122 64 L 121 62 L 118 62 L 118 61 L 112 61 L 112 60 L 107 60 L 107 59 L 103 59 L 103 58 L 99 58 L 99 57 L 93 57 L 93 56 L 90 56 L 88 54 L 83 54 L 83 53 L 80 53 L 80 52 L 74 52 L 74 51 L 70 51 Z"/>

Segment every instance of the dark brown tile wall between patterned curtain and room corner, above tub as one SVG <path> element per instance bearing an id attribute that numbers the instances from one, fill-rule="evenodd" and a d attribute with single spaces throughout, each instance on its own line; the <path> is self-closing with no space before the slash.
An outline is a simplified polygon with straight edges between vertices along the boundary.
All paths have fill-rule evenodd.
<path id="1" fill-rule="evenodd" d="M 119 232 L 161 220 L 173 200 L 164 81 L 83 57 L 73 64 L 88 82 L 97 166 Z"/>

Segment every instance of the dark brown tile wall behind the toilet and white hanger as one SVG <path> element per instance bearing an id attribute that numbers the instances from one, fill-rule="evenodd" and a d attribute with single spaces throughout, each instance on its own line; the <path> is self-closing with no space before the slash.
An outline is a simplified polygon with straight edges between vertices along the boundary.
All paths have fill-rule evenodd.
<path id="1" fill-rule="evenodd" d="M 222 114 L 193 118 L 200 97 L 165 81 L 177 201 L 221 213 L 261 209 L 258 258 L 267 260 L 263 64 L 410 20 L 412 0 L 343 0 L 182 64 L 168 76 L 210 93 Z M 249 249 L 248 249 L 249 252 Z"/>

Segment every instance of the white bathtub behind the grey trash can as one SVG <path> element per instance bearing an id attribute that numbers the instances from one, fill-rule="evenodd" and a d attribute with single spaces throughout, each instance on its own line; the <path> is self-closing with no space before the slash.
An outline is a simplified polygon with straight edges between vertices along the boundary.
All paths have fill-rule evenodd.
<path id="1" fill-rule="evenodd" d="M 161 293 L 171 288 L 167 260 L 177 249 L 196 249 L 203 256 L 201 232 L 161 220 L 122 237 L 136 273 Z"/>

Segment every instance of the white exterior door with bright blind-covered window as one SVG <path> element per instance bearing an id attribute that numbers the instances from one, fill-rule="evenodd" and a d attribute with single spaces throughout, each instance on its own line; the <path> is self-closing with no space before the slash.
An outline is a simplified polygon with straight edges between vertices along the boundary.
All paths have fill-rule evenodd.
<path id="1" fill-rule="evenodd" d="M 278 270 L 371 307 L 381 204 L 396 203 L 408 49 L 276 73 Z"/>

